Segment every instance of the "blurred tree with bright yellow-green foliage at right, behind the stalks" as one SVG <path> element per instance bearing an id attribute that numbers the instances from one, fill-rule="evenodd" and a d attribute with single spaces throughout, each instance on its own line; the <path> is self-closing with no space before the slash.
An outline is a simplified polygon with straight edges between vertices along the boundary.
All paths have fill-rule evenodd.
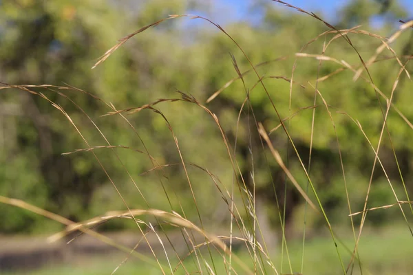
<path id="1" fill-rule="evenodd" d="M 383 3 L 385 5 L 386 3 Z M 369 28 L 371 20 L 379 12 L 384 12 L 383 7 L 381 8 L 374 1 L 363 1 L 355 0 L 350 1 L 339 14 L 341 14 L 340 21 L 337 23 L 337 28 L 351 28 L 354 25 L 364 24 L 366 28 Z M 405 16 L 405 12 L 401 6 L 397 5 L 396 1 L 392 3 L 389 7 L 385 8 L 386 17 L 383 17 L 383 28 L 379 32 L 388 32 L 391 26 L 394 26 L 394 19 L 398 17 Z M 299 52 L 300 48 L 305 45 L 308 41 L 315 38 L 318 34 L 321 34 L 326 29 L 325 25 L 321 22 L 311 17 L 303 17 L 302 14 L 293 14 L 290 12 L 280 12 L 275 8 L 271 8 L 271 5 L 268 5 L 266 9 L 266 14 L 264 17 L 264 26 L 266 27 L 263 31 L 262 29 L 257 30 L 251 29 L 248 26 L 242 26 L 243 31 L 237 31 L 240 28 L 240 25 L 234 25 L 232 28 L 226 28 L 226 30 L 233 34 L 235 40 L 242 45 L 246 54 L 248 55 L 253 63 L 260 63 L 261 61 L 268 61 L 279 56 L 287 56 L 288 54 Z M 305 26 L 305 28 L 302 28 Z M 392 28 L 394 31 L 394 28 Z M 352 39 L 352 43 L 356 48 L 361 52 L 365 61 L 370 58 L 370 55 L 374 52 L 374 49 L 381 45 L 380 41 L 368 39 L 366 36 L 361 36 L 360 34 L 349 34 Z M 326 39 L 321 37 L 319 41 L 307 47 L 304 52 L 311 54 L 321 54 L 322 45 L 321 43 L 326 40 L 329 41 L 332 36 L 326 36 Z M 224 37 L 216 39 L 214 43 L 216 46 L 213 47 L 214 56 L 217 58 L 224 58 L 226 52 L 231 48 L 230 42 L 226 42 Z M 403 40 L 401 43 L 394 45 L 396 52 L 400 52 L 401 45 L 405 44 Z M 275 49 L 276 52 L 273 50 Z M 232 50 L 231 50 L 232 51 Z M 234 50 L 235 51 L 235 50 Z M 407 55 L 408 51 L 404 51 Z M 411 54 L 411 51 L 410 51 Z M 338 39 L 330 45 L 326 52 L 327 56 L 332 56 L 338 60 L 345 60 L 352 65 L 361 65 L 356 52 L 343 41 L 343 39 Z M 227 57 L 227 60 L 230 61 L 230 58 Z M 244 61 L 243 56 L 237 58 L 238 64 L 243 69 L 249 69 L 249 66 Z M 222 76 L 226 76 L 225 72 L 231 72 L 230 64 L 220 64 L 215 63 L 215 60 L 211 60 L 211 65 L 209 67 L 215 67 L 214 70 L 210 71 L 208 78 L 211 80 L 221 79 Z M 406 59 L 403 58 L 403 62 Z M 229 62 L 228 62 L 229 63 Z M 287 78 L 291 74 L 293 61 L 288 60 L 287 62 L 278 62 L 271 63 L 266 66 L 265 69 L 259 68 L 259 72 L 265 72 L 265 75 L 268 76 L 286 76 Z M 372 77 L 376 85 L 380 87 L 382 91 L 385 91 L 387 96 L 390 96 L 390 91 L 394 81 L 396 80 L 396 74 L 399 71 L 399 65 L 396 63 L 391 63 L 390 71 L 379 69 L 377 66 L 370 67 L 370 72 L 372 72 Z M 295 71 L 295 81 L 297 83 L 305 83 L 307 80 L 314 80 L 317 76 L 317 65 L 315 61 L 303 61 L 299 60 L 297 63 L 297 70 Z M 357 67 L 357 66 L 356 66 Z M 336 69 L 339 69 L 334 63 L 323 62 L 319 68 L 319 76 L 326 76 L 332 74 Z M 226 76 L 230 79 L 234 76 L 235 70 L 233 69 L 232 76 Z M 263 74 L 264 75 L 264 74 Z M 378 133 L 381 129 L 381 124 L 383 117 L 381 115 L 381 110 L 379 103 L 377 102 L 376 95 L 374 90 L 369 87 L 368 83 L 363 82 L 362 80 L 357 81 L 356 83 L 351 83 L 348 81 L 352 77 L 352 74 L 348 72 L 343 72 L 338 76 L 333 76 L 324 83 L 319 83 L 319 89 L 326 98 L 328 104 L 332 105 L 333 110 L 337 111 L 346 111 L 348 114 L 352 115 L 353 118 L 359 120 L 363 125 L 364 130 L 370 138 L 372 138 L 373 144 L 377 144 Z M 255 87 L 257 83 L 256 76 L 246 76 L 247 89 Z M 408 96 L 407 91 L 411 87 L 411 83 L 405 75 L 401 77 L 403 84 L 399 86 L 401 89 L 400 93 L 404 96 Z M 303 81 L 304 80 L 304 81 Z M 268 91 L 270 91 L 271 97 L 273 98 L 279 113 L 281 113 L 282 118 L 288 117 L 288 114 L 295 113 L 299 111 L 300 108 L 306 108 L 313 105 L 313 96 L 310 87 L 306 85 L 306 89 L 301 89 L 298 85 L 293 85 L 293 100 L 291 110 L 288 111 L 288 83 L 282 83 L 282 80 L 273 80 L 267 78 L 264 80 Z M 219 81 L 216 83 L 210 83 L 210 89 L 218 90 L 223 83 Z M 229 109 L 233 109 L 233 112 L 237 113 L 240 110 L 242 101 L 246 97 L 246 93 L 242 88 L 241 83 L 233 85 L 233 87 L 226 89 L 218 98 L 213 101 L 211 104 L 211 109 L 221 113 L 222 115 L 228 113 Z M 286 208 L 286 221 L 288 224 L 292 224 L 291 217 L 295 212 L 296 206 L 302 202 L 300 196 L 295 190 L 295 188 L 290 187 L 288 183 L 285 187 L 285 175 L 282 172 L 273 160 L 272 157 L 268 157 L 269 168 L 267 159 L 262 155 L 262 145 L 260 142 L 260 136 L 258 135 L 255 129 L 256 119 L 259 122 L 266 122 L 266 125 L 271 129 L 271 124 L 275 126 L 274 123 L 277 122 L 275 117 L 275 111 L 271 107 L 271 102 L 266 97 L 264 91 L 260 89 L 260 85 L 255 87 L 254 91 L 251 91 L 251 105 L 254 109 L 254 115 L 251 112 L 248 112 L 244 107 L 244 112 L 242 113 L 242 120 L 240 129 L 244 129 L 244 133 L 241 131 L 236 132 L 237 129 L 233 128 L 233 131 L 228 133 L 230 140 L 235 141 L 237 138 L 237 149 L 240 154 L 240 159 L 243 160 L 242 166 L 242 176 L 246 181 L 247 186 L 252 190 L 255 186 L 255 194 L 257 195 L 257 201 L 266 201 L 267 206 L 274 208 L 275 206 L 275 196 L 278 197 L 279 204 L 282 206 L 280 208 L 283 211 L 283 208 Z M 215 106 L 214 106 L 215 104 Z M 343 176 L 339 169 L 339 155 L 337 151 L 337 144 L 335 142 L 335 131 L 332 128 L 332 124 L 328 114 L 326 113 L 321 100 L 318 100 L 317 104 L 321 104 L 315 111 L 316 120 L 315 120 L 315 133 L 314 133 L 314 143 L 312 151 L 312 168 L 311 175 L 313 181 L 316 183 L 316 188 L 319 192 L 319 195 L 323 198 L 323 203 L 326 205 L 328 214 L 337 217 L 346 216 L 346 192 L 343 187 Z M 398 106 L 403 108 L 403 113 L 410 114 L 411 111 L 405 107 L 403 101 L 397 100 Z M 382 102 L 382 106 L 385 107 L 385 104 Z M 368 113 L 369 115 L 366 115 Z M 293 140 L 298 148 L 301 159 L 304 164 L 308 164 L 308 153 L 310 151 L 310 132 L 311 132 L 311 109 L 307 111 L 302 111 L 291 121 L 289 126 L 289 131 Z M 390 133 L 393 135 L 393 139 L 398 139 L 404 135 L 401 131 L 409 131 L 409 127 L 405 122 L 401 122 L 401 118 L 396 115 L 396 113 L 390 113 L 392 122 L 394 124 L 390 125 Z M 339 141 L 341 145 L 341 151 L 343 153 L 343 160 L 346 167 L 346 173 L 348 177 L 357 177 L 359 173 L 365 175 L 365 181 L 363 182 L 363 187 L 354 188 L 357 191 L 365 194 L 367 189 L 368 182 L 366 179 L 370 175 L 371 163 L 372 163 L 372 152 L 366 144 L 366 140 L 363 135 L 360 133 L 354 124 L 348 120 L 343 115 L 334 115 L 335 124 L 339 125 L 337 127 L 337 134 L 339 135 Z M 396 122 L 396 121 L 399 122 Z M 233 122 L 235 123 L 235 121 Z M 288 122 L 286 122 L 288 123 Z M 401 124 L 404 124 L 403 126 Z M 248 130 L 245 130 L 248 129 Z M 404 130 L 401 130 L 404 129 Z M 288 148 L 286 135 L 283 133 L 282 128 L 279 128 L 275 134 L 272 136 L 273 143 L 276 148 L 283 153 L 284 156 L 287 155 Z M 404 144 L 403 142 L 394 143 L 396 146 L 397 155 L 399 156 L 399 162 L 401 159 L 405 159 L 405 154 L 411 155 L 411 146 Z M 389 148 L 390 144 L 385 143 L 382 152 L 388 152 L 391 150 Z M 251 156 L 251 151 L 255 152 Z M 407 153 L 409 152 L 409 153 Z M 267 152 L 268 156 L 271 156 Z M 288 166 L 295 173 L 297 178 L 301 179 L 303 188 L 305 188 L 306 179 L 302 173 L 299 172 L 299 163 L 297 162 L 297 157 L 295 157 L 295 152 L 292 150 L 292 147 L 289 146 L 288 151 L 289 157 Z M 258 157 L 257 157 L 258 156 Z M 389 156 L 390 157 L 390 156 Z M 253 160 L 252 160 L 253 159 Z M 408 168 L 411 164 L 408 162 L 401 161 L 401 166 L 403 172 L 408 171 Z M 386 162 L 385 168 L 392 174 L 392 179 L 400 179 L 398 172 L 396 171 L 394 157 L 389 159 L 389 162 Z M 268 175 L 268 170 L 271 170 L 271 177 Z M 252 171 L 254 172 L 251 176 Z M 354 174 L 354 175 L 353 175 Z M 403 174 L 405 175 L 405 174 Z M 377 175 L 376 177 L 380 178 L 382 175 Z M 406 178 L 405 178 L 406 179 Z M 273 183 L 271 184 L 271 181 Z M 334 184 L 333 184 L 334 183 Z M 351 184 L 350 184 L 351 186 Z M 381 185 L 381 187 L 383 187 Z M 388 191 L 390 188 L 388 189 Z M 286 191 L 286 193 L 285 193 Z M 276 192 L 276 194 L 275 194 Z M 390 193 L 388 193 L 390 195 Z M 399 195 L 403 195 L 403 192 L 399 192 Z M 358 196 L 352 194 L 352 196 Z M 391 195 L 390 195 L 391 196 Z M 360 209 L 363 207 L 363 198 L 354 199 L 354 204 L 352 207 L 357 207 Z M 392 198 L 394 200 L 394 197 Z M 374 199 L 372 199 L 374 201 Z M 379 199 L 379 201 L 385 201 Z M 377 200 L 374 201 L 377 203 Z M 335 215 L 335 211 L 341 209 L 341 215 Z M 344 211 L 343 211 L 344 210 Z M 266 210 L 261 210 L 261 212 L 266 212 Z M 273 212 L 273 210 L 271 211 Z M 271 217 L 271 216 L 270 216 Z M 277 221 L 277 216 L 272 216 Z M 292 230 L 292 228 L 290 228 Z M 268 228 L 266 228 L 268 232 Z"/>

